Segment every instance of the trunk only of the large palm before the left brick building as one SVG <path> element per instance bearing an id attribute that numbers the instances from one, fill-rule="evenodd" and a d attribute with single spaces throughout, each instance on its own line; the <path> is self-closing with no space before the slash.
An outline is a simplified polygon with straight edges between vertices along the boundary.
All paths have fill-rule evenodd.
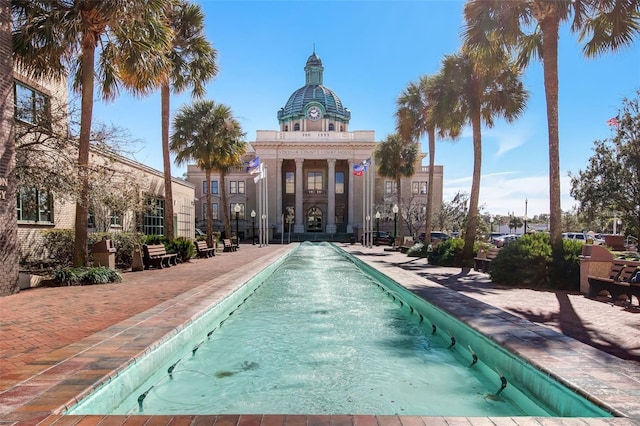
<path id="1" fill-rule="evenodd" d="M 91 140 L 91 120 L 93 117 L 93 84 L 95 44 L 87 33 L 82 40 L 82 95 L 80 111 L 80 137 L 78 140 L 78 173 L 80 174 L 80 194 L 76 201 L 75 243 L 73 266 L 88 265 L 87 232 L 89 222 L 89 149 Z"/>

